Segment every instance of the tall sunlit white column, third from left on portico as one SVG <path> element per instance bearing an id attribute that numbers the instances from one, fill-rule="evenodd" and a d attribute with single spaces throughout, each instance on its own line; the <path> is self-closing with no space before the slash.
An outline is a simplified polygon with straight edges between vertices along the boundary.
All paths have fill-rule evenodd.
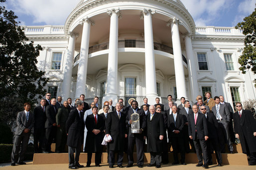
<path id="1" fill-rule="evenodd" d="M 109 41 L 109 58 L 108 58 L 108 78 L 107 93 L 103 101 L 109 99 L 113 103 L 117 103 L 118 97 L 118 18 L 120 16 L 119 9 L 108 10 L 110 17 L 110 41 Z"/>

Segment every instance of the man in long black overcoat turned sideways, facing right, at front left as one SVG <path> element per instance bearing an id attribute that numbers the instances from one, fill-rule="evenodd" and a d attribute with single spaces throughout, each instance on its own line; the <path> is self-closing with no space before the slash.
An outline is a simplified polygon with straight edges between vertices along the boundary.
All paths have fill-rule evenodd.
<path id="1" fill-rule="evenodd" d="M 69 159 L 69 168 L 77 169 L 83 168 L 84 166 L 79 164 L 79 155 L 81 151 L 81 146 L 83 143 L 84 137 L 84 115 L 83 108 L 84 102 L 81 100 L 76 101 L 76 109 L 72 110 L 69 113 L 67 122 L 66 122 L 66 133 L 68 135 L 67 145 L 68 145 L 68 159 Z M 76 156 L 74 158 L 74 153 Z"/>

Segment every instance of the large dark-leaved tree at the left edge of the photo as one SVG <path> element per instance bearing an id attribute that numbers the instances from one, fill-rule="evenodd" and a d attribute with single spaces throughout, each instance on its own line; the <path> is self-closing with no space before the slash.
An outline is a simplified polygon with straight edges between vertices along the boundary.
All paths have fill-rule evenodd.
<path id="1" fill-rule="evenodd" d="M 28 42 L 17 18 L 13 11 L 0 6 L 0 105 L 13 100 L 21 104 L 34 104 L 46 92 L 44 86 L 48 79 L 36 66 L 36 57 L 42 48 L 39 45 L 34 47 L 33 42 Z M 9 118 L 6 117 L 6 112 L 8 113 L 4 109 L 0 110 L 0 120 Z M 16 113 L 9 114 L 14 116 Z M 2 116 L 6 119 L 2 119 Z"/>

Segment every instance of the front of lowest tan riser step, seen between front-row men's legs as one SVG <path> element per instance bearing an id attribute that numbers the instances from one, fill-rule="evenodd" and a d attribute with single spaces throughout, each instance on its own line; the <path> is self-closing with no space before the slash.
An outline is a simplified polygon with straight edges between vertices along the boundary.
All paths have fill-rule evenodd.
<path id="1" fill-rule="evenodd" d="M 133 154 L 134 160 L 136 160 L 136 154 Z M 215 154 L 213 156 L 213 163 L 216 164 Z M 92 163 L 94 163 L 94 154 L 92 158 Z M 102 163 L 107 163 L 108 154 L 102 154 Z M 248 165 L 247 156 L 245 154 L 222 154 L 223 164 L 224 165 Z M 81 153 L 79 162 L 85 164 L 87 162 L 87 154 Z M 127 163 L 127 155 L 124 154 L 124 163 Z M 134 161 L 136 162 L 136 161 Z M 150 162 L 150 154 L 144 153 L 144 163 Z M 169 153 L 169 162 L 173 162 L 173 155 Z M 195 153 L 186 154 L 187 164 L 196 164 L 198 162 L 197 156 Z M 33 164 L 68 164 L 68 153 L 60 154 L 34 154 Z"/>

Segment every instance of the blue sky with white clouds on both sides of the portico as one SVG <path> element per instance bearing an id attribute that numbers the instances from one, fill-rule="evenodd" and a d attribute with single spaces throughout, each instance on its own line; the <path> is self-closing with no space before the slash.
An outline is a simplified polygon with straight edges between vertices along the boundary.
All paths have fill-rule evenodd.
<path id="1" fill-rule="evenodd" d="M 80 0 L 6 0 L 21 25 L 64 25 Z M 256 0 L 181 0 L 196 26 L 233 27 L 253 11 Z M 2 4 L 1 4 L 2 5 Z"/>

